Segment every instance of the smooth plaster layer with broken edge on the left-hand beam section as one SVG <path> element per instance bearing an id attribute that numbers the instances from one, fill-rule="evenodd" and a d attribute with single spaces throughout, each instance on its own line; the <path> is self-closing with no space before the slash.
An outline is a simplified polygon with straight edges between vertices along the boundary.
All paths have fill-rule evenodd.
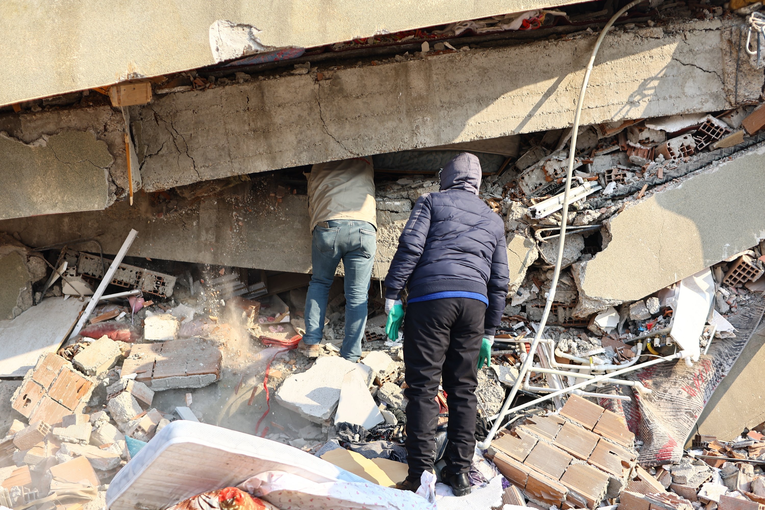
<path id="1" fill-rule="evenodd" d="M 0 219 L 109 205 L 112 155 L 93 133 L 63 131 L 31 145 L 0 134 Z"/>

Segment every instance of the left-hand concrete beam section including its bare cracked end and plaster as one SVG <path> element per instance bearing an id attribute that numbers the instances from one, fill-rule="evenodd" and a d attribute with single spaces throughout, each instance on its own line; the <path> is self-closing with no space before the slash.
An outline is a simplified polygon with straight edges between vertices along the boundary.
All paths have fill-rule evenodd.
<path id="1" fill-rule="evenodd" d="M 14 193 L 10 202 L 0 200 L 0 217 L 98 210 L 128 193 L 125 117 L 118 109 L 96 101 L 90 106 L 6 113 L 0 115 L 0 132 L 7 135 L 0 140 L 2 147 L 9 149 L 0 150 L 0 176 L 4 168 L 13 172 L 13 179 L 4 180 L 13 185 L 0 193 Z M 137 191 L 141 174 L 135 151 L 132 168 Z M 23 193 L 29 194 L 22 203 L 16 195 Z"/>

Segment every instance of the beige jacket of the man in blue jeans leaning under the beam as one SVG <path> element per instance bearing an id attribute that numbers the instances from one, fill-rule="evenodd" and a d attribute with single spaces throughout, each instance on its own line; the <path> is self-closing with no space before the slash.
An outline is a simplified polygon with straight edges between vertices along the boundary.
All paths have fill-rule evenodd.
<path id="1" fill-rule="evenodd" d="M 330 219 L 360 219 L 377 228 L 372 158 L 314 164 L 308 177 L 311 232 Z"/>

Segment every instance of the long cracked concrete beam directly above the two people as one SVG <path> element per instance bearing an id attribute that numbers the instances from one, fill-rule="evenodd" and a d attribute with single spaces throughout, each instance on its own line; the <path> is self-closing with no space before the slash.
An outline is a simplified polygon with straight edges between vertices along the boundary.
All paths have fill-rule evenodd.
<path id="1" fill-rule="evenodd" d="M 584 125 L 729 108 L 732 21 L 609 34 L 591 75 Z M 567 127 L 595 36 L 428 55 L 168 94 L 132 109 L 145 190 Z M 530 66 L 534 62 L 538 65 Z M 469 72 L 466 72 L 469 70 Z M 510 72 L 509 72 L 510 70 Z M 740 66 L 737 99 L 763 74 Z"/>

